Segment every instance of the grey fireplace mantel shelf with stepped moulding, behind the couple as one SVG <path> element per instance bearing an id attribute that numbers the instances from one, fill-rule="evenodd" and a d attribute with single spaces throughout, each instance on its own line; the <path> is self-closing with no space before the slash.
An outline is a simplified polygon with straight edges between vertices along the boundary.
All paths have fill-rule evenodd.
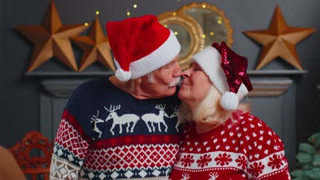
<path id="1" fill-rule="evenodd" d="M 306 70 L 250 70 L 248 74 L 254 88 L 249 96 L 281 95 L 292 84 L 296 76 Z M 72 91 L 82 82 L 114 72 L 30 72 L 27 76 L 43 77 L 42 85 L 55 97 L 70 97 Z"/>

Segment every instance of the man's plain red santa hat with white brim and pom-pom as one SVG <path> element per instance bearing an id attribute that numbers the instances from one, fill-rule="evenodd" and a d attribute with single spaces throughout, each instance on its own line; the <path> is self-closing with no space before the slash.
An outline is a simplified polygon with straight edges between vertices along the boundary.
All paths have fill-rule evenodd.
<path id="1" fill-rule="evenodd" d="M 106 28 L 118 67 L 116 77 L 122 81 L 157 70 L 172 61 L 181 50 L 176 35 L 153 15 L 109 22 Z"/>

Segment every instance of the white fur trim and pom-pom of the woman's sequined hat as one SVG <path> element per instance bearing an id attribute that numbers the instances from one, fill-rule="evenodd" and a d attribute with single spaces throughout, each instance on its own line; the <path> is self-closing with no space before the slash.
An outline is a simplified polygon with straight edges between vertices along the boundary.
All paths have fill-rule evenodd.
<path id="1" fill-rule="evenodd" d="M 248 94 L 248 89 L 241 83 L 237 93 L 230 92 L 226 74 L 224 74 L 224 70 L 221 67 L 221 55 L 219 51 L 212 46 L 208 46 L 194 55 L 192 59 L 200 65 L 206 75 L 209 76 L 215 88 L 222 93 L 222 97 L 219 100 L 222 108 L 235 110 L 243 97 Z"/>

